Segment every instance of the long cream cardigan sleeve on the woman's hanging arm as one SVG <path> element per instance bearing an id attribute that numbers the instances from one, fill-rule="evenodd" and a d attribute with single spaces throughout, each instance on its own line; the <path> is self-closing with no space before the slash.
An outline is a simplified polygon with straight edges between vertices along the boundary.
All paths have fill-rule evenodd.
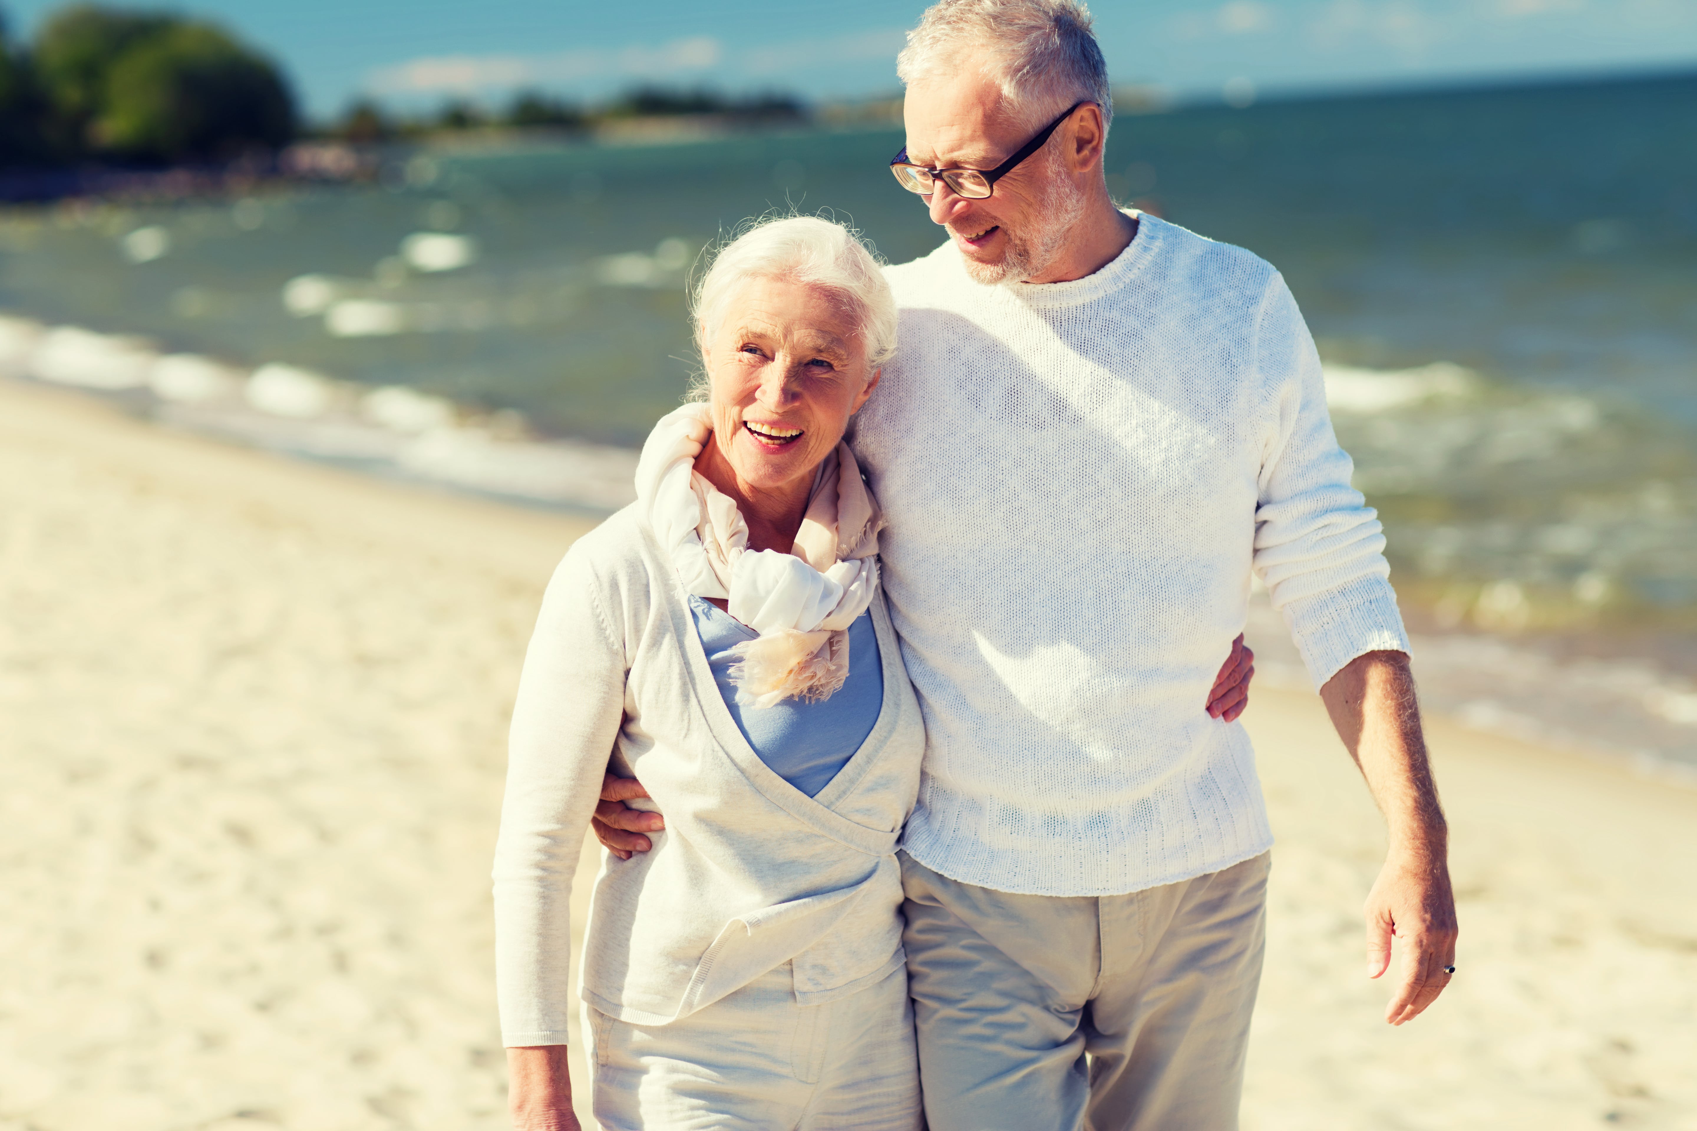
<path id="1" fill-rule="evenodd" d="M 623 722 L 624 649 L 574 548 L 543 595 L 507 743 L 496 844 L 496 992 L 506 1046 L 565 1045 L 572 877 Z"/>

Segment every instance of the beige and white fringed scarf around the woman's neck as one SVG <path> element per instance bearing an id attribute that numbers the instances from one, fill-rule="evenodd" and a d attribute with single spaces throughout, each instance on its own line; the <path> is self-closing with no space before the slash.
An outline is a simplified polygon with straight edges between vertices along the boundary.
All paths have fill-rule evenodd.
<path id="1" fill-rule="evenodd" d="M 828 699 L 848 678 L 848 626 L 877 588 L 884 515 L 848 444 L 820 465 L 792 553 L 748 549 L 748 524 L 696 473 L 713 434 L 708 405 L 660 417 L 636 465 L 636 499 L 684 588 L 726 600 L 760 636 L 738 644 L 738 702 Z"/>

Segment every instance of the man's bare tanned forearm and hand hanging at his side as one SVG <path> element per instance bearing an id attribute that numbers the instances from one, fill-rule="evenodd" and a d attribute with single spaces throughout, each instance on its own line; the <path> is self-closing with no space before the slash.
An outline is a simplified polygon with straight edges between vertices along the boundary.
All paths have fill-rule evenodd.
<path id="1" fill-rule="evenodd" d="M 1449 985 L 1456 961 L 1456 902 L 1449 890 L 1449 829 L 1425 758 L 1409 656 L 1369 651 L 1320 688 L 1327 714 L 1361 768 L 1390 827 L 1390 850 L 1364 907 L 1368 977 L 1390 968 L 1402 939 L 1402 978 L 1385 1021 L 1403 1024 Z"/>

